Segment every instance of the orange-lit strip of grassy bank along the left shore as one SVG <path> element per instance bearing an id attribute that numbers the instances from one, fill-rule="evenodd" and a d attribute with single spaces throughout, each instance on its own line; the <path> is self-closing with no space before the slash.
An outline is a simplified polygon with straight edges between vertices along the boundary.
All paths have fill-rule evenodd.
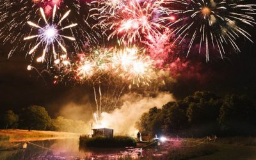
<path id="1" fill-rule="evenodd" d="M 81 134 L 71 132 L 3 129 L 0 130 L 0 141 L 36 141 L 57 138 L 79 138 L 80 135 Z"/>

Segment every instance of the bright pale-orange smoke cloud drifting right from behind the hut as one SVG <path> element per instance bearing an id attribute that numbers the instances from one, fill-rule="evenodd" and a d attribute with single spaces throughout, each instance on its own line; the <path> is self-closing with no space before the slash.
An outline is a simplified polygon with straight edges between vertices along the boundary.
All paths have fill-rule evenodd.
<path id="1" fill-rule="evenodd" d="M 143 113 L 154 106 L 161 108 L 174 99 L 172 94 L 161 92 L 157 97 L 143 97 L 136 93 L 126 94 L 122 100 L 124 103 L 120 108 L 116 108 L 111 113 L 102 113 L 102 125 L 93 125 L 93 128 L 107 127 L 114 129 L 114 134 L 134 135 L 138 132 L 134 125 Z"/>

